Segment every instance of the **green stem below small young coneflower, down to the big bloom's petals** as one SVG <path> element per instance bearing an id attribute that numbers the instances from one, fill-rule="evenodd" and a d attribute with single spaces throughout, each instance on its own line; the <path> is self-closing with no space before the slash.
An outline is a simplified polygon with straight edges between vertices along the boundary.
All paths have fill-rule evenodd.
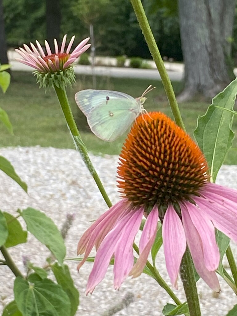
<path id="1" fill-rule="evenodd" d="M 72 114 L 72 111 L 71 111 L 71 108 L 70 108 L 70 105 L 68 102 L 66 91 L 63 90 L 62 88 L 58 88 L 56 85 L 54 85 L 54 88 L 55 88 L 59 103 L 62 107 L 62 112 L 63 112 L 64 117 L 68 123 L 68 127 L 72 133 L 75 146 L 78 149 L 78 151 L 80 152 L 82 159 L 86 164 L 86 167 L 89 169 L 92 177 L 94 178 L 94 180 L 98 186 L 98 189 L 100 190 L 100 192 L 104 198 L 104 201 L 106 202 L 108 207 L 111 207 L 112 203 L 110 202 L 110 199 L 109 199 L 109 197 L 104 189 L 104 186 L 103 186 L 102 182 L 100 181 L 100 178 L 99 178 L 97 172 L 95 171 L 95 168 L 92 165 L 92 162 L 91 162 L 89 155 L 88 155 L 88 151 L 86 149 L 86 146 L 82 142 L 80 133 L 78 131 L 78 128 L 77 128 L 76 123 L 75 123 L 74 118 L 73 118 L 73 114 Z"/>

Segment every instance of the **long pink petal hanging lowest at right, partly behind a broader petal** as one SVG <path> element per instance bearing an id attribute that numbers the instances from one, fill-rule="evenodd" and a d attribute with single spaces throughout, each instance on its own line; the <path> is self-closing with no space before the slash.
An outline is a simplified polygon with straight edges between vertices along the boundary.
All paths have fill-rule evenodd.
<path id="1" fill-rule="evenodd" d="M 202 240 L 200 239 L 197 229 L 193 225 L 185 203 L 181 204 L 180 207 L 187 245 L 193 258 L 194 266 L 205 283 L 207 283 L 207 285 L 214 291 L 219 292 L 220 284 L 216 273 L 214 271 L 209 271 L 206 268 L 203 258 Z"/>

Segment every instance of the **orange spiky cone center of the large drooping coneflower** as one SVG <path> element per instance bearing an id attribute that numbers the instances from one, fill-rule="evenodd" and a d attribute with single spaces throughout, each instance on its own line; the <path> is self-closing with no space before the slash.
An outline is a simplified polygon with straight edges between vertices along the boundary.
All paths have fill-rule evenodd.
<path id="1" fill-rule="evenodd" d="M 161 112 L 136 119 L 119 160 L 119 191 L 134 206 L 189 200 L 209 179 L 199 147 Z"/>

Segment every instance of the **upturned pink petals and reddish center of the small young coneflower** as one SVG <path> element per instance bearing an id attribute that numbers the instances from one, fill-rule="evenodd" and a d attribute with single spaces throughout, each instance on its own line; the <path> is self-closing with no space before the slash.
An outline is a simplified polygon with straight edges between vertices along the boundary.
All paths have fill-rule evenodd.
<path id="1" fill-rule="evenodd" d="M 18 52 L 23 59 L 16 58 L 16 60 L 23 64 L 33 67 L 39 72 L 47 73 L 55 72 L 58 70 L 65 70 L 69 66 L 71 66 L 73 62 L 91 46 L 91 44 L 86 45 L 86 43 L 90 39 L 89 37 L 87 37 L 85 40 L 81 41 L 80 44 L 76 46 L 72 53 L 69 53 L 74 42 L 74 39 L 75 36 L 71 38 L 66 52 L 64 52 L 64 50 L 67 35 L 64 35 L 63 37 L 62 46 L 60 50 L 58 48 L 56 39 L 54 39 L 55 53 L 51 52 L 50 46 L 48 42 L 45 40 L 44 43 L 47 54 L 44 53 L 44 50 L 42 46 L 39 44 L 38 40 L 36 40 L 38 49 L 33 45 L 33 43 L 30 43 L 31 48 L 24 44 L 24 49 L 21 47 L 19 49 L 16 49 L 16 52 Z"/>

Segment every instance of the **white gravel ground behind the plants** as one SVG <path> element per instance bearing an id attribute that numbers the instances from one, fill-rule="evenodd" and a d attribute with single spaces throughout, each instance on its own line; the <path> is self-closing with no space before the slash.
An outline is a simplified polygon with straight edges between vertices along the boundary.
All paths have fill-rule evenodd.
<path id="1" fill-rule="evenodd" d="M 76 257 L 77 242 L 81 234 L 106 209 L 106 204 L 97 186 L 86 169 L 78 152 L 72 149 L 55 149 L 41 147 L 1 148 L 3 155 L 15 167 L 16 172 L 28 185 L 26 194 L 12 179 L 0 173 L 2 211 L 16 214 L 18 208 L 33 207 L 44 211 L 60 228 L 66 214 L 75 214 L 75 220 L 66 239 L 67 256 Z M 116 188 L 117 156 L 90 155 L 95 168 L 104 183 L 105 189 L 113 203 L 118 201 Z M 237 166 L 223 166 L 217 183 L 237 189 Z M 23 223 L 23 221 L 21 221 Z M 236 245 L 232 245 L 237 259 Z M 27 256 L 35 265 L 45 264 L 49 255 L 48 249 L 41 245 L 31 234 L 27 244 L 9 249 L 10 254 L 24 273 L 22 256 Z M 138 278 L 127 280 L 119 291 L 113 289 L 112 267 L 109 268 L 105 279 L 96 287 L 92 295 L 86 297 L 85 288 L 92 263 L 85 263 L 76 272 L 76 263 L 67 262 L 75 285 L 80 292 L 80 306 L 77 315 L 103 315 L 108 309 L 120 303 L 122 298 L 131 292 L 135 301 L 128 307 L 117 312 L 116 316 L 160 316 L 166 302 L 173 303 L 166 292 L 149 276 L 142 274 Z M 228 267 L 227 261 L 225 264 Z M 167 283 L 167 276 L 163 249 L 157 255 L 157 268 Z M 229 271 L 229 269 L 227 268 Z M 3 306 L 12 300 L 14 276 L 5 266 L 0 267 L 0 312 Z M 237 303 L 236 296 L 228 285 L 220 278 L 222 292 L 214 295 L 202 280 L 198 281 L 202 315 L 226 315 L 227 311 Z M 174 290 L 181 301 L 185 301 L 181 281 L 179 290 Z M 215 311 L 213 313 L 213 310 Z M 67 315 L 65 315 L 67 316 Z"/>

